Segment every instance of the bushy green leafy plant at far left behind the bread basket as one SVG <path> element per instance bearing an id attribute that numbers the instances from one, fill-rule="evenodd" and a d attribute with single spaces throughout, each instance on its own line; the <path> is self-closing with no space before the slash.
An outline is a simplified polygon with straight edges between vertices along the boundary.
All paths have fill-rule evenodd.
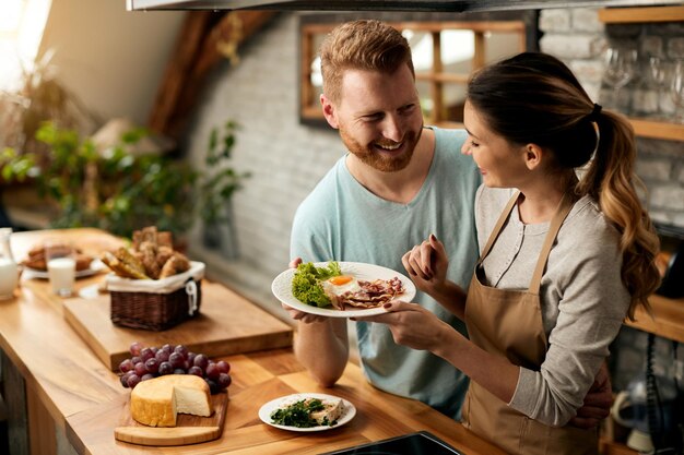
<path id="1" fill-rule="evenodd" d="M 55 203 L 54 227 L 92 226 L 130 237 L 141 226 L 157 226 L 182 237 L 194 220 L 198 172 L 162 155 L 132 155 L 128 148 L 146 132 L 135 129 L 99 153 L 91 137 L 43 123 L 36 139 L 49 159 L 5 148 L 0 157 L 7 181 L 33 179 L 38 194 Z"/>

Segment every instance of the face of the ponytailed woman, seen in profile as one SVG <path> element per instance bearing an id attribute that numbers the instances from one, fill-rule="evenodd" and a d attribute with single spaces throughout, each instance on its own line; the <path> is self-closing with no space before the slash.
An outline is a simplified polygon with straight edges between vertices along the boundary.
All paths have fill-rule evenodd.
<path id="1" fill-rule="evenodd" d="M 512 145 L 490 130 L 479 112 L 465 101 L 463 123 L 468 141 L 461 153 L 472 155 L 482 173 L 482 181 L 490 188 L 520 188 L 529 175 L 526 165 L 526 147 Z"/>

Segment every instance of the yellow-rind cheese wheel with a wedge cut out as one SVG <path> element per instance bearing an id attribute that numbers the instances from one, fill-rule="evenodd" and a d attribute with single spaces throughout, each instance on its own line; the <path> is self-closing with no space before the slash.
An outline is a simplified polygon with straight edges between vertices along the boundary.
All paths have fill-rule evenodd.
<path id="1" fill-rule="evenodd" d="M 150 427 L 175 427 L 178 412 L 209 417 L 209 385 L 194 374 L 167 374 L 142 381 L 131 392 L 131 416 Z"/>

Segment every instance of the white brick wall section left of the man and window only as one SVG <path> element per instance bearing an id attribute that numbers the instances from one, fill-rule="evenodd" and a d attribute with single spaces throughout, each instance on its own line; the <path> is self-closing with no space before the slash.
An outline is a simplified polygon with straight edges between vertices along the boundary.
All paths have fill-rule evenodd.
<path id="1" fill-rule="evenodd" d="M 337 131 L 300 125 L 297 117 L 297 17 L 283 14 L 227 62 L 197 103 L 200 107 L 187 153 L 199 165 L 212 127 L 227 119 L 241 124 L 232 165 L 251 172 L 234 199 L 239 258 L 201 247 L 200 227 L 190 253 L 204 259 L 211 278 L 222 280 L 269 310 L 282 313 L 271 282 L 290 262 L 294 212 L 316 182 L 344 153 Z"/>

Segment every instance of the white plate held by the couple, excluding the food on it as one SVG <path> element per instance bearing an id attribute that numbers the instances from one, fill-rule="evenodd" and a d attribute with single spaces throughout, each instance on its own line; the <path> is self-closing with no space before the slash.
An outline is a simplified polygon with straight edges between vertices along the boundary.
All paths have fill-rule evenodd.
<path id="1" fill-rule="evenodd" d="M 316 262 L 314 263 L 314 265 L 317 267 L 325 267 L 328 265 L 328 263 L 329 262 Z M 404 291 L 398 295 L 396 299 L 410 302 L 415 297 L 415 285 L 406 276 L 400 274 L 399 272 L 394 272 L 391 268 L 381 267 L 375 264 L 364 264 L 362 262 L 338 263 L 340 264 L 340 268 L 342 268 L 343 274 L 353 275 L 354 277 L 366 282 L 373 282 L 375 279 L 391 279 L 398 277 L 399 279 L 401 279 Z M 281 302 L 292 308 L 304 311 L 305 313 L 318 314 L 329 318 L 363 318 L 385 313 L 385 309 L 382 307 L 369 308 L 365 310 L 341 311 L 333 308 L 318 308 L 303 303 L 297 300 L 295 296 L 292 295 L 292 278 L 294 277 L 296 271 L 296 268 L 287 268 L 285 272 L 282 272 L 280 275 L 278 275 L 273 280 L 273 284 L 271 285 L 271 291 L 273 291 L 273 295 L 278 297 Z"/>

